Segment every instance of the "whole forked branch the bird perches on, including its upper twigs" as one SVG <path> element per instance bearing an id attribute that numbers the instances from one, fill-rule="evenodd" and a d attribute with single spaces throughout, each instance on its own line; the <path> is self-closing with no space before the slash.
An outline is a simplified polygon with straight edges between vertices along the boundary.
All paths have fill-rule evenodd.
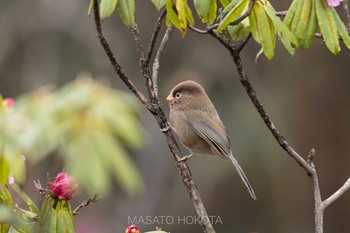
<path id="1" fill-rule="evenodd" d="M 200 194 L 198 192 L 198 189 L 192 179 L 192 174 L 187 166 L 187 163 L 185 161 L 181 161 L 182 154 L 180 152 L 180 149 L 176 143 L 176 140 L 174 138 L 174 135 L 172 131 L 170 130 L 170 126 L 168 124 L 168 120 L 164 114 L 163 109 L 161 108 L 159 104 L 158 95 L 155 92 L 155 87 L 157 87 L 157 74 L 159 69 L 159 59 L 160 55 L 165 47 L 165 44 L 170 36 L 170 33 L 172 31 L 172 27 L 169 27 L 166 31 L 165 36 L 163 37 L 163 41 L 161 42 L 160 47 L 157 50 L 156 60 L 154 64 L 157 64 L 158 67 L 154 68 L 153 70 L 153 80 L 151 78 L 151 72 L 150 72 L 150 59 L 154 50 L 155 42 L 157 39 L 157 36 L 159 34 L 159 30 L 161 27 L 161 22 L 163 21 L 163 18 L 165 16 L 165 13 L 162 12 L 159 16 L 155 31 L 151 38 L 150 47 L 147 50 L 147 53 L 145 55 L 140 32 L 137 28 L 137 25 L 135 24 L 132 28 L 132 34 L 134 35 L 134 39 L 137 46 L 137 54 L 139 56 L 139 66 L 140 71 L 144 77 L 145 85 L 148 90 L 149 94 L 149 100 L 139 91 L 139 89 L 135 86 L 135 84 L 129 79 L 129 77 L 126 75 L 126 73 L 123 71 L 121 65 L 116 60 L 113 52 L 110 49 L 110 46 L 105 39 L 101 27 L 101 19 L 99 14 L 99 6 L 98 6 L 98 0 L 93 0 L 93 11 L 94 11 L 94 20 L 96 25 L 96 31 L 97 31 L 97 37 L 99 39 L 100 44 L 102 45 L 106 55 L 108 56 L 111 65 L 116 72 L 116 74 L 122 79 L 122 81 L 125 83 L 125 85 L 136 95 L 136 97 L 140 100 L 140 102 L 154 115 L 155 119 L 157 120 L 157 123 L 159 125 L 160 130 L 164 133 L 166 137 L 166 141 L 168 144 L 168 147 L 176 161 L 176 165 L 179 169 L 182 182 L 184 183 L 187 192 L 190 196 L 190 199 L 193 203 L 193 206 L 197 212 L 198 216 L 198 222 L 201 225 L 203 232 L 205 233 L 215 233 L 215 230 L 211 224 L 210 221 L 207 221 L 209 219 L 207 211 L 204 207 L 204 204 L 201 200 Z"/>

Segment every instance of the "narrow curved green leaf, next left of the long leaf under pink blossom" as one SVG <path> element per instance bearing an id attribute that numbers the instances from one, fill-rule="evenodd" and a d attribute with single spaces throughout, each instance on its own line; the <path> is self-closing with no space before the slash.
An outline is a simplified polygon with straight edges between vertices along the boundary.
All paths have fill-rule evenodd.
<path id="1" fill-rule="evenodd" d="M 315 33 L 317 29 L 317 16 L 316 16 L 316 2 L 312 0 L 311 13 L 309 17 L 309 22 L 307 28 L 300 39 L 299 46 L 301 49 L 307 49 L 310 47 L 312 40 L 315 38 Z"/>

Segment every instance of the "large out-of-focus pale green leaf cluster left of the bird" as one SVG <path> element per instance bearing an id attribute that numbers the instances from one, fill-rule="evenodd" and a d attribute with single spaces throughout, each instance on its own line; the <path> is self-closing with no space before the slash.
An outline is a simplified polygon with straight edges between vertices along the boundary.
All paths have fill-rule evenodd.
<path id="1" fill-rule="evenodd" d="M 38 161 L 55 152 L 81 187 L 105 193 L 113 177 L 135 194 L 142 182 L 125 146 L 143 142 L 137 107 L 129 94 L 90 78 L 23 95 L 0 114 L 0 180 L 13 174 L 16 182 L 24 181 L 22 153 Z"/>

